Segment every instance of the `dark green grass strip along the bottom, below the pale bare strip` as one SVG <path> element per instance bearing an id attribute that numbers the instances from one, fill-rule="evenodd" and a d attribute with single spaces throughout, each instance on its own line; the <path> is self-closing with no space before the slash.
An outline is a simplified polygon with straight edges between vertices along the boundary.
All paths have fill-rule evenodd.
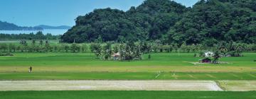
<path id="1" fill-rule="evenodd" d="M 256 92 L 220 91 L 5 91 L 1 99 L 255 99 Z"/>

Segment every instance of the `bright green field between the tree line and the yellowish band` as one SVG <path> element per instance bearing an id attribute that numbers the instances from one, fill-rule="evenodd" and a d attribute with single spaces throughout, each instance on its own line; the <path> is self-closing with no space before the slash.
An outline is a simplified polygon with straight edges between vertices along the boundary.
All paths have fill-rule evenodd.
<path id="1" fill-rule="evenodd" d="M 0 57 L 0 66 L 255 66 L 256 53 L 245 53 L 245 57 L 223 57 L 228 64 L 196 64 L 203 57 L 193 53 L 156 53 L 151 59 L 143 55 L 142 61 L 114 62 L 95 59 L 93 53 L 14 53 L 14 57 Z"/>

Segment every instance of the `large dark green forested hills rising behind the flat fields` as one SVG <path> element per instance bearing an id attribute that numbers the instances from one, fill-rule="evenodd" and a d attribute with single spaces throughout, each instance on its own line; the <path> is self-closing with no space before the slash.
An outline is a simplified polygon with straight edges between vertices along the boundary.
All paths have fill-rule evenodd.
<path id="1" fill-rule="evenodd" d="M 201 0 L 192 8 L 175 1 L 146 0 L 129 11 L 96 9 L 79 16 L 63 42 L 124 42 L 213 45 L 219 41 L 256 43 L 256 1 Z"/>

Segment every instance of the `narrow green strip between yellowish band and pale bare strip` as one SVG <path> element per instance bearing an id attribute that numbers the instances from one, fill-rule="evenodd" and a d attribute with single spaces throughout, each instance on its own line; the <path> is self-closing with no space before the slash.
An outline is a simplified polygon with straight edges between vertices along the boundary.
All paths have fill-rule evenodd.
<path id="1" fill-rule="evenodd" d="M 24 67 L 26 68 L 26 67 Z M 70 67 L 72 68 L 72 67 Z M 233 80 L 255 81 L 255 73 L 176 73 L 163 72 L 28 72 L 0 73 L 0 80 Z M 47 67 L 45 69 L 50 69 Z M 157 77 L 156 77 L 157 76 Z"/>

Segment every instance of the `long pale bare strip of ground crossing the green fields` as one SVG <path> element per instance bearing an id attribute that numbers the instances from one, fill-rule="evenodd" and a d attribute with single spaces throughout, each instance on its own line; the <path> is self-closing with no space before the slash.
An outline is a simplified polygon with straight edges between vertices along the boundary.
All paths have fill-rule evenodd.
<path id="1" fill-rule="evenodd" d="M 0 91 L 222 91 L 214 81 L 0 81 Z"/>

